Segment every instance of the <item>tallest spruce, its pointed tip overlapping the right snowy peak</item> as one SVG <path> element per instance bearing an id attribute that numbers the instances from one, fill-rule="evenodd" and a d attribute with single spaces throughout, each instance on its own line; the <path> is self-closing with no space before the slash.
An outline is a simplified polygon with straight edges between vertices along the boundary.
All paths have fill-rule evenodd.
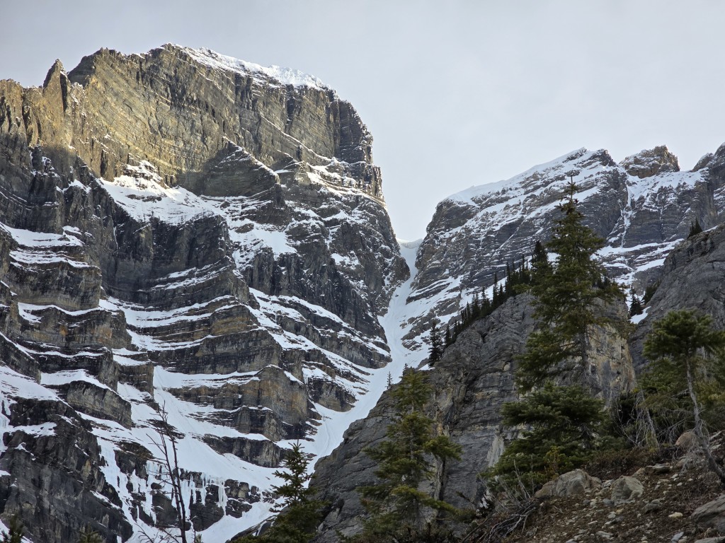
<path id="1" fill-rule="evenodd" d="M 576 208 L 576 185 L 571 183 L 568 198 L 560 205 L 562 216 L 552 231 L 547 248 L 558 254 L 548 264 L 541 248 L 534 250 L 534 316 L 538 329 L 526 342 L 526 353 L 519 363 L 517 384 L 526 392 L 544 384 L 561 371 L 578 369 L 589 375 L 587 329 L 606 322 L 597 303 L 622 295 L 613 282 L 603 279 L 605 271 L 594 254 L 604 240 L 583 224 L 584 215 Z M 599 286 L 597 286 L 599 285 Z M 564 362 L 568 366 L 563 366 Z"/>

